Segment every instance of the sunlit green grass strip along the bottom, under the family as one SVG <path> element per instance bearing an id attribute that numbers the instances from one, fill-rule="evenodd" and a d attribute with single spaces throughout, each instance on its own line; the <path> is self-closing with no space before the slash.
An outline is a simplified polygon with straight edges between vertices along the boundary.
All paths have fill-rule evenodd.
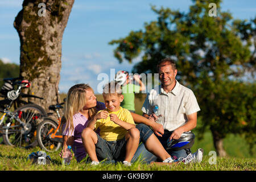
<path id="1" fill-rule="evenodd" d="M 31 152 L 40 151 L 39 147 L 30 150 L 15 148 L 0 144 L 0 170 L 6 171 L 234 171 L 234 170 L 255 170 L 256 159 L 239 159 L 239 158 L 217 158 L 216 164 L 209 164 L 209 156 L 204 156 L 203 162 L 196 164 L 172 164 L 159 166 L 157 164 L 142 164 L 137 161 L 131 167 L 125 167 L 118 164 L 100 164 L 99 166 L 90 166 L 86 163 L 76 163 L 72 160 L 69 166 L 63 166 L 58 152 L 47 153 L 50 155 L 53 163 L 48 165 L 35 165 L 27 156 Z"/>

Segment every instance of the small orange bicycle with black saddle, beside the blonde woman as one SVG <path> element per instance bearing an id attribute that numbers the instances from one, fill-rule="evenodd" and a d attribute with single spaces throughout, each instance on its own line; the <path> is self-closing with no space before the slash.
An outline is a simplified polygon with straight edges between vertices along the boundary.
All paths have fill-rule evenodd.
<path id="1" fill-rule="evenodd" d="M 65 99 L 64 99 L 65 102 Z M 38 144 L 42 150 L 53 152 L 59 150 L 62 143 L 62 135 L 59 131 L 61 117 L 59 110 L 63 109 L 64 102 L 61 104 L 49 106 L 49 110 L 53 110 L 57 114 L 57 122 L 51 118 L 44 118 L 36 130 Z"/>

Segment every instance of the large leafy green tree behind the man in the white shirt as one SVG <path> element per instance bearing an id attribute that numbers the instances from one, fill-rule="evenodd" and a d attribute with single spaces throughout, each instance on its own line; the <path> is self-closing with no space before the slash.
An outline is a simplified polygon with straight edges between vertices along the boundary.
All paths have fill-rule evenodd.
<path id="1" fill-rule="evenodd" d="M 212 2 L 217 5 L 216 17 L 208 14 Z M 250 101 L 253 97 L 247 97 L 247 94 L 253 96 L 255 85 L 247 87 L 242 82 L 233 82 L 246 73 L 246 66 L 255 67 L 251 39 L 242 37 L 249 32 L 247 27 L 253 32 L 255 26 L 251 22 L 243 26 L 241 20 L 232 22 L 232 15 L 222 12 L 220 3 L 219 0 L 193 1 L 188 13 L 163 7 L 157 10 L 152 6 L 157 20 L 144 23 L 144 30 L 131 31 L 125 38 L 112 40 L 110 44 L 117 44 L 114 56 L 119 63 L 142 57 L 133 68 L 137 73 L 156 73 L 157 61 L 167 56 L 176 59 L 177 80 L 192 88 L 199 100 L 199 116 L 203 121 L 200 130 L 209 127 L 217 154 L 226 156 L 222 142 L 227 134 L 242 133 L 245 129 L 242 123 L 255 131 L 255 102 Z M 246 87 L 245 92 L 242 89 L 232 91 L 241 85 Z M 240 99 L 233 104 L 237 97 Z M 241 106 L 238 101 L 242 102 Z M 250 111 L 246 110 L 248 108 Z M 247 130 L 247 133 L 254 131 Z"/>

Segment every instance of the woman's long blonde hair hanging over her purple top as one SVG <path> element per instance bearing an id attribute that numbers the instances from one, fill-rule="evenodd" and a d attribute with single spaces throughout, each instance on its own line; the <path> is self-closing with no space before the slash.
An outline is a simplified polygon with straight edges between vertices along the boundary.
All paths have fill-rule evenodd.
<path id="1" fill-rule="evenodd" d="M 68 90 L 67 101 L 65 102 L 64 106 L 64 117 L 61 118 L 61 126 L 66 123 L 64 131 L 68 131 L 69 133 L 74 131 L 74 124 L 73 124 L 73 115 L 79 113 L 82 108 L 86 104 L 86 90 L 93 89 L 88 84 L 77 84 L 72 86 Z M 89 109 L 89 119 L 91 119 L 96 114 L 96 107 L 92 107 Z"/>

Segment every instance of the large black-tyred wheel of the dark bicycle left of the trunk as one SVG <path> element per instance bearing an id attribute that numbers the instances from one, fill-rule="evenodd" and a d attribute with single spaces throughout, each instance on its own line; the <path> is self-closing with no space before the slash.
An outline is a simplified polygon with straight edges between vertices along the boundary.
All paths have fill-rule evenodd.
<path id="1" fill-rule="evenodd" d="M 15 147 L 35 147 L 36 127 L 46 117 L 46 111 L 36 104 L 26 104 L 13 112 L 24 123 L 24 126 L 18 119 L 9 119 L 5 124 L 3 131 L 3 142 Z"/>

